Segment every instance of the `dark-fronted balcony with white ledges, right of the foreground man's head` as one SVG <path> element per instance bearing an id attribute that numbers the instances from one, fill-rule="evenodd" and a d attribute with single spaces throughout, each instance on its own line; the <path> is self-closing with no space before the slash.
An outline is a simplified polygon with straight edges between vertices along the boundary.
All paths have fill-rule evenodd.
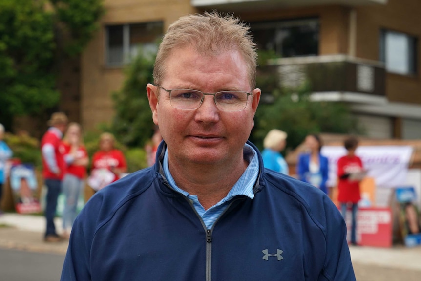
<path id="1" fill-rule="evenodd" d="M 294 88 L 308 82 L 313 100 L 387 102 L 385 69 L 381 62 L 326 55 L 276 59 L 268 67 L 278 73 L 281 87 Z"/>

